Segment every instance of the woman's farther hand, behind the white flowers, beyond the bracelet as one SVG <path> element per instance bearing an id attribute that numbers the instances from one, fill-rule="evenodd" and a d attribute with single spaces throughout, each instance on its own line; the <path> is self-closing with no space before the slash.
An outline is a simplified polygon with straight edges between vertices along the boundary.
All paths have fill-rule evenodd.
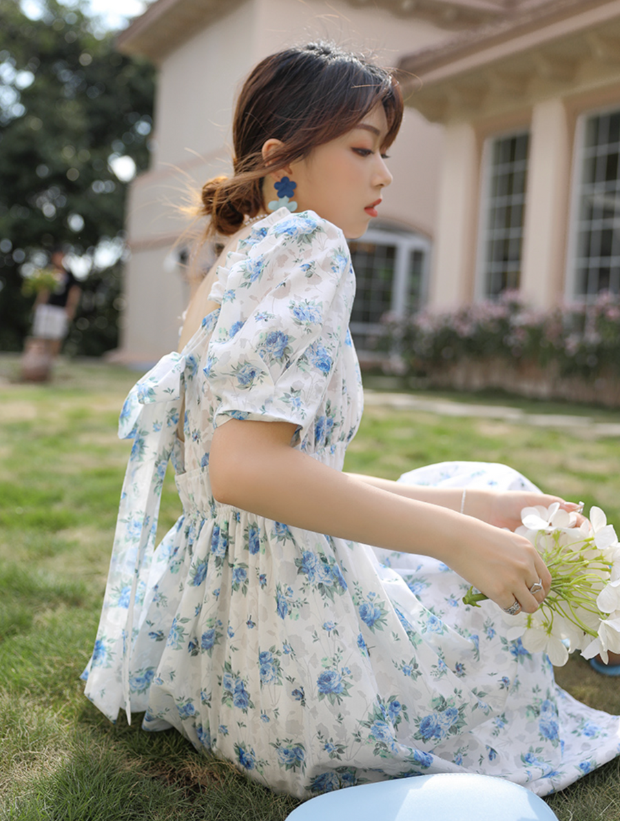
<path id="1" fill-rule="evenodd" d="M 468 490 L 464 512 L 495 527 L 517 530 L 522 525 L 521 511 L 524 507 L 549 507 L 554 502 L 558 502 L 568 513 L 577 513 L 577 527 L 585 521 L 581 512 L 577 512 L 580 506 L 576 502 L 566 502 L 549 493 L 531 493 L 526 490 Z"/>

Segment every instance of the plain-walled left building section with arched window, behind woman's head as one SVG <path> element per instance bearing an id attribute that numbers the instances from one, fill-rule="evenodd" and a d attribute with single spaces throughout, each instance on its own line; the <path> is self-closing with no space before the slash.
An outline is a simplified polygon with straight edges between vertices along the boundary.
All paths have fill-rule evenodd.
<path id="1" fill-rule="evenodd" d="M 176 347 L 189 298 L 179 264 L 188 243 L 179 205 L 230 169 L 230 121 L 239 85 L 262 57 L 291 44 L 334 39 L 396 66 L 497 16 L 487 0 L 156 0 L 118 40 L 158 67 L 151 168 L 130 186 L 126 310 L 117 358 L 148 363 Z M 441 124 L 408 108 L 390 149 L 394 183 L 381 218 L 352 245 L 358 272 L 353 333 L 367 346 L 386 310 L 426 299 L 435 235 Z M 180 240 L 181 237 L 181 240 Z"/>

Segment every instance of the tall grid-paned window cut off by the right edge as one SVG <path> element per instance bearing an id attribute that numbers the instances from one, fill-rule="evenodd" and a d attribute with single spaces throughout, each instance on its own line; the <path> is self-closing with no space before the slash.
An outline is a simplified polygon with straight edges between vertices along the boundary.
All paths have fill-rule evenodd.
<path id="1" fill-rule="evenodd" d="M 620 110 L 583 123 L 573 294 L 620 291 Z"/>

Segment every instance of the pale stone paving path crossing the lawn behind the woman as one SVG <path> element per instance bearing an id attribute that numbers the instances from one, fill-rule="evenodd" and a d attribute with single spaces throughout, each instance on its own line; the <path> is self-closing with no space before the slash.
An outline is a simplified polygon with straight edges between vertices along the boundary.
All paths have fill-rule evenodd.
<path id="1" fill-rule="evenodd" d="M 475 416 L 479 419 L 499 419 L 518 424 L 531 424 L 539 428 L 572 429 L 587 436 L 620 437 L 620 422 L 595 422 L 590 416 L 570 414 L 526 413 L 519 408 L 504 405 L 474 405 L 450 399 L 416 397 L 410 393 L 364 391 L 367 406 L 385 406 L 397 410 L 422 410 L 441 416 Z"/>

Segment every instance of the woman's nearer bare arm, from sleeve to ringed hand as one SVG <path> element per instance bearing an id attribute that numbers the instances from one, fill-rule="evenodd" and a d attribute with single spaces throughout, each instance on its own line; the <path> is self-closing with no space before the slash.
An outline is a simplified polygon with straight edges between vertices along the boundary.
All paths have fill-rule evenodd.
<path id="1" fill-rule="evenodd" d="M 551 577 L 527 539 L 333 470 L 290 447 L 294 430 L 288 422 L 221 424 L 209 456 L 217 501 L 305 530 L 424 553 L 500 607 L 517 599 L 526 612 L 536 610 L 529 588 L 540 578 L 546 594 Z"/>

